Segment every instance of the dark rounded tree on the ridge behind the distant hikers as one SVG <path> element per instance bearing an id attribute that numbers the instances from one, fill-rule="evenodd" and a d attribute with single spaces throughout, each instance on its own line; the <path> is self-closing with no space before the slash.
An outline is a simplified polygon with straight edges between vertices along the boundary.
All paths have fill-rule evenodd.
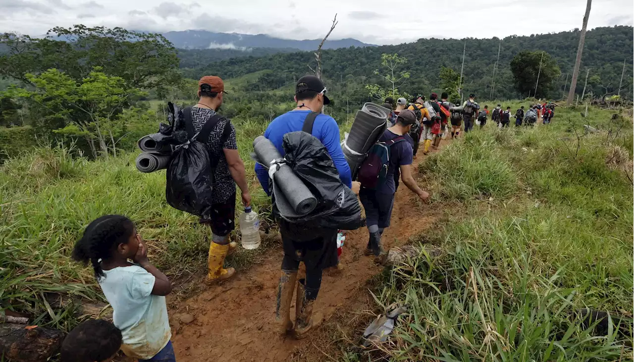
<path id="1" fill-rule="evenodd" d="M 522 96 L 543 98 L 561 75 L 557 61 L 545 51 L 522 51 L 510 63 L 515 89 Z M 539 79 L 537 91 L 535 85 Z"/>

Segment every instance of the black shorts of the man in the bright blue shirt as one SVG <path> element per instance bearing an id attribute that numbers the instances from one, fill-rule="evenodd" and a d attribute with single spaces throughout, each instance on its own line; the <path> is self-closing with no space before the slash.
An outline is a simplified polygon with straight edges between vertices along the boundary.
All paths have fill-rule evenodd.
<path id="1" fill-rule="evenodd" d="M 313 230 L 311 236 L 306 236 L 301 231 L 302 227 L 297 224 L 286 221 L 278 222 L 278 224 L 285 257 L 304 262 L 306 270 L 323 270 L 336 266 L 339 262 L 338 230 L 322 228 L 319 231 Z M 303 237 L 298 238 L 298 233 L 304 234 Z"/>

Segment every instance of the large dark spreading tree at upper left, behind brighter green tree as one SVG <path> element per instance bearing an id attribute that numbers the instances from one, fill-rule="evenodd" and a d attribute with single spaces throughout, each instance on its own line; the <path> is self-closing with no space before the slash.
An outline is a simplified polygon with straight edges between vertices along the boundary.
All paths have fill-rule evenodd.
<path id="1" fill-rule="evenodd" d="M 27 74 L 56 68 L 75 81 L 94 67 L 120 77 L 127 86 L 150 89 L 178 83 L 178 56 L 171 42 L 160 34 L 126 29 L 56 27 L 36 39 L 15 33 L 0 34 L 0 75 L 28 82 Z"/>

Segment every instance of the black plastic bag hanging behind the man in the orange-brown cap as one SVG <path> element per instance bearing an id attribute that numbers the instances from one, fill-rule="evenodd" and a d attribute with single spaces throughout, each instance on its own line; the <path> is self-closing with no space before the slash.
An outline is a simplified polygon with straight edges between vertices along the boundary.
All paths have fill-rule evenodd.
<path id="1" fill-rule="evenodd" d="M 165 199 L 174 209 L 211 217 L 212 169 L 207 146 L 198 141 L 176 147 L 167 166 Z"/>

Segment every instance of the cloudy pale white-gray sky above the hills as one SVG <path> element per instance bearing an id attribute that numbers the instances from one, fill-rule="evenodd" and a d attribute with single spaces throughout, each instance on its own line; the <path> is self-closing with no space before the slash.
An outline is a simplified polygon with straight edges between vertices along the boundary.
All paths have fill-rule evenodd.
<path id="1" fill-rule="evenodd" d="M 571 30 L 581 28 L 586 6 L 585 0 L 418 0 L 420 6 L 416 1 L 385 0 L 161 1 L 0 0 L 0 32 L 40 35 L 51 27 L 83 23 L 315 39 L 325 35 L 338 13 L 332 39 L 396 44 L 421 37 L 504 37 Z M 403 7 L 397 8 L 398 4 Z M 590 28 L 634 25 L 634 0 L 595 0 L 592 5 Z"/>

